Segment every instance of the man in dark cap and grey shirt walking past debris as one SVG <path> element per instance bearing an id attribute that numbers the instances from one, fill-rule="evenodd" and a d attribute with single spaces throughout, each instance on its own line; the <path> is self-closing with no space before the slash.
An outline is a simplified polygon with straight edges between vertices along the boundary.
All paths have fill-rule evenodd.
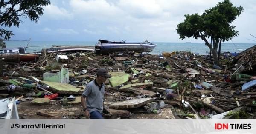
<path id="1" fill-rule="evenodd" d="M 96 79 L 87 84 L 81 96 L 81 103 L 84 108 L 86 118 L 103 119 L 103 98 L 105 92 L 104 82 L 110 74 L 105 68 L 100 68 L 96 72 Z"/>

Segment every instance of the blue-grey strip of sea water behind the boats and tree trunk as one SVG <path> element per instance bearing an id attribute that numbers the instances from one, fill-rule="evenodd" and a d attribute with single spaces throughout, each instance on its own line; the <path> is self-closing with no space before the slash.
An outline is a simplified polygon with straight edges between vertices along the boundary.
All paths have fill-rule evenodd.
<path id="1" fill-rule="evenodd" d="M 7 47 L 22 47 L 27 46 L 28 41 L 6 41 Z M 38 52 L 44 47 L 51 47 L 52 45 L 84 45 L 94 46 L 96 41 L 30 41 L 27 52 Z M 191 51 L 198 54 L 208 54 L 209 48 L 204 43 L 163 43 L 153 42 L 157 44 L 151 54 L 162 54 L 164 51 Z M 247 48 L 256 45 L 256 43 L 222 43 L 221 52 L 242 52 Z"/>

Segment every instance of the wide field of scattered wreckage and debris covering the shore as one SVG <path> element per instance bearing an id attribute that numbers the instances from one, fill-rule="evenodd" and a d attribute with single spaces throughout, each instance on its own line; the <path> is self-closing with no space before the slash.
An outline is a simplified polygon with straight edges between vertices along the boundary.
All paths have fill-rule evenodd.
<path id="1" fill-rule="evenodd" d="M 106 68 L 111 77 L 105 82 L 104 107 L 108 108 L 105 117 L 161 115 L 169 109 L 171 116 L 173 112 L 180 118 L 214 118 L 238 107 L 247 110 L 227 112 L 227 116 L 221 115 L 221 118 L 252 117 L 256 111 L 256 81 L 253 80 L 256 64 L 255 58 L 248 54 L 253 50 L 241 53 L 246 58 L 222 53 L 218 65 L 212 65 L 209 55 L 189 51 L 160 55 L 123 51 L 106 56 L 84 51 L 49 53 L 49 49 L 48 54 L 41 55 L 36 62 L 3 63 L 0 97 L 23 95 L 25 98 L 15 100 L 19 109 L 32 104 L 54 105 L 51 110 L 59 112 L 48 112 L 47 108 L 39 112 L 31 108 L 31 113 L 37 115 L 24 118 L 80 118 L 82 92 L 96 78 L 97 69 Z M 19 114 L 30 114 L 23 111 Z M 69 115 L 72 111 L 80 113 Z M 5 111 L 0 114 L 6 115 Z"/>

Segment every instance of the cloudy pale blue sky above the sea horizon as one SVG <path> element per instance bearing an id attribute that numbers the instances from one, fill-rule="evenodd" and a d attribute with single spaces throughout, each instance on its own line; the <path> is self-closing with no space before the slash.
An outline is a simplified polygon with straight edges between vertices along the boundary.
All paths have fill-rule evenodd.
<path id="1" fill-rule="evenodd" d="M 202 14 L 222 0 L 51 0 L 38 23 L 27 18 L 12 27 L 11 40 L 34 41 L 128 40 L 151 42 L 203 42 L 180 40 L 177 24 L 184 14 Z M 234 43 L 255 43 L 256 0 L 231 0 L 244 12 L 233 23 L 239 31 Z M 251 39 L 251 40 L 248 40 Z"/>

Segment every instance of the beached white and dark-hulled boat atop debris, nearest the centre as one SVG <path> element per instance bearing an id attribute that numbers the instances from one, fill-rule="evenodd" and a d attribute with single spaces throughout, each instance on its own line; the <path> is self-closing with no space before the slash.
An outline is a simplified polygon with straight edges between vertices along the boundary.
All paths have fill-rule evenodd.
<path id="1" fill-rule="evenodd" d="M 142 52 L 151 52 L 157 45 L 148 42 L 146 40 L 143 43 L 126 43 L 108 41 L 108 40 L 99 40 L 95 44 L 95 54 L 111 54 L 113 52 L 124 52 L 124 51 L 134 51 L 138 53 Z"/>

